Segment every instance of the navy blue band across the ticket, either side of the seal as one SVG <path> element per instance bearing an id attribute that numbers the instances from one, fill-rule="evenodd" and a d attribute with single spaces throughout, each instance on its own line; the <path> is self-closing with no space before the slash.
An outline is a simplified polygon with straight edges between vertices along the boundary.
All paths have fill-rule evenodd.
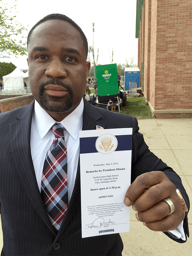
<path id="1" fill-rule="evenodd" d="M 98 136 L 99 137 L 99 136 Z M 97 153 L 95 146 L 98 137 L 80 138 L 80 154 Z M 117 139 L 117 148 L 115 151 L 131 150 L 132 147 L 132 134 L 129 135 L 115 135 Z"/>

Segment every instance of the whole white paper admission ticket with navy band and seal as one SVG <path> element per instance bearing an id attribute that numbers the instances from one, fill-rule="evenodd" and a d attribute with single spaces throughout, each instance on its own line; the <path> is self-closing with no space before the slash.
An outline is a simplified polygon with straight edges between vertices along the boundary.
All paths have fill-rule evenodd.
<path id="1" fill-rule="evenodd" d="M 132 128 L 80 131 L 82 238 L 129 231 Z"/>

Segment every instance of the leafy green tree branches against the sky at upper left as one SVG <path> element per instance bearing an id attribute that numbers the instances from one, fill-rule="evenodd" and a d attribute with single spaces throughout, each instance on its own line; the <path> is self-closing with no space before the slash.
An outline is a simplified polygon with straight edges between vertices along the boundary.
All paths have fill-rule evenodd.
<path id="1" fill-rule="evenodd" d="M 26 43 L 22 43 L 22 32 L 27 30 L 15 20 L 16 0 L 14 6 L 8 7 L 7 3 L 0 0 L 0 57 L 9 58 L 9 55 L 25 55 Z M 11 13 L 11 16 L 9 14 Z M 19 38 L 17 40 L 17 38 Z"/>

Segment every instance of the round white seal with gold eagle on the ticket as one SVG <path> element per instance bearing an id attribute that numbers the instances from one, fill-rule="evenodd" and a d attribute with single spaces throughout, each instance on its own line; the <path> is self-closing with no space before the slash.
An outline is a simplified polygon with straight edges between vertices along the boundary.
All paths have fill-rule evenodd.
<path id="1" fill-rule="evenodd" d="M 105 133 L 97 138 L 95 147 L 101 154 L 110 154 L 117 148 L 117 139 L 114 135 Z"/>

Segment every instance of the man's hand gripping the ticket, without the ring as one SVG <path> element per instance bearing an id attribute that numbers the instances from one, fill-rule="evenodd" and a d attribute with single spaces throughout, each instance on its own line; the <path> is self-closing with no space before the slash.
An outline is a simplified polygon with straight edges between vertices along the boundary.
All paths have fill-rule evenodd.
<path id="1" fill-rule="evenodd" d="M 161 201 L 164 198 L 174 204 L 175 210 L 170 215 L 169 205 Z M 128 188 L 124 204 L 132 205 L 137 211 L 136 218 L 154 231 L 175 230 L 185 217 L 175 185 L 160 171 L 138 176 Z"/>

